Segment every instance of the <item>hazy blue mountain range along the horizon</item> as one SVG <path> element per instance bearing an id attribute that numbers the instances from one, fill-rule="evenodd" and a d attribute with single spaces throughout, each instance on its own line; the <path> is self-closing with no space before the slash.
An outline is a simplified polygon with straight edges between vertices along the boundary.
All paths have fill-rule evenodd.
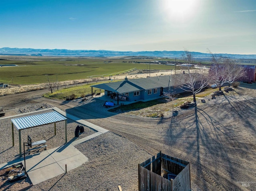
<path id="1" fill-rule="evenodd" d="M 118 57 L 148 56 L 180 58 L 184 51 L 109 51 L 109 50 L 67 50 L 67 49 L 32 49 L 32 48 L 0 48 L 0 55 L 28 56 L 74 56 L 74 57 Z M 209 53 L 193 52 L 196 59 L 208 59 Z M 256 59 L 256 55 L 222 54 L 234 59 Z"/>

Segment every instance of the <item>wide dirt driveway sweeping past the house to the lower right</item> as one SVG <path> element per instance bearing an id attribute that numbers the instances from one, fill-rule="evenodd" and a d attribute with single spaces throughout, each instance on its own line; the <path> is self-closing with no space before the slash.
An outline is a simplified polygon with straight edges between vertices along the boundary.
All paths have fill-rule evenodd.
<path id="1" fill-rule="evenodd" d="M 243 86 L 247 87 L 196 109 L 180 110 L 178 116 L 170 118 L 110 114 L 100 109 L 93 114 L 92 102 L 86 108 L 31 94 L 22 98 L 26 104 L 58 106 L 128 138 L 152 155 L 162 150 L 190 161 L 193 190 L 256 190 L 256 85 Z M 4 97 L 10 103 L 11 96 Z"/>

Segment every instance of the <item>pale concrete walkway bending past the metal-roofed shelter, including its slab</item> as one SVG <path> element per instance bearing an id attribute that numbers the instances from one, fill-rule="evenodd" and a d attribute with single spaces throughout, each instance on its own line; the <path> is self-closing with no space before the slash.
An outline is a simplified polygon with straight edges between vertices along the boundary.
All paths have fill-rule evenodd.
<path id="1" fill-rule="evenodd" d="M 63 116 L 66 116 L 67 118 L 78 122 L 79 124 L 96 130 L 97 132 L 74 142 L 69 142 L 63 146 L 26 156 L 26 171 L 33 185 L 56 177 L 87 162 L 88 158 L 84 156 L 84 154 L 82 154 L 74 146 L 108 132 L 108 130 L 101 128 L 100 126 L 96 126 L 85 120 L 67 114 L 66 112 L 60 110 L 57 107 L 49 108 L 46 110 L 52 109 L 56 112 L 59 112 Z M 14 161 L 0 164 L 0 169 L 9 167 L 20 162 L 22 162 L 22 164 L 24 165 L 24 158 L 19 158 Z"/>

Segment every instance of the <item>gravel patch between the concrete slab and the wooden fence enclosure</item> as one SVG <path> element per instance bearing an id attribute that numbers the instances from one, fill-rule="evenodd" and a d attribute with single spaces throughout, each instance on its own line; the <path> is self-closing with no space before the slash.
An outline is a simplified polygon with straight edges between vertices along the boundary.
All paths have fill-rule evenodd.
<path id="1" fill-rule="evenodd" d="M 31 191 L 124 191 L 138 190 L 138 163 L 151 155 L 128 139 L 112 132 L 76 146 L 89 161 L 48 181 Z"/>

